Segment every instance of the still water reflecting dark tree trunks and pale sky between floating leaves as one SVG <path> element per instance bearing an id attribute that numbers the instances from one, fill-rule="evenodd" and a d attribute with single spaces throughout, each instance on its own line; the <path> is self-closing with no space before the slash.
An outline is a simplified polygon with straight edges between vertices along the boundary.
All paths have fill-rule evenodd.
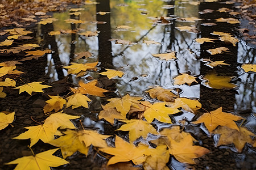
<path id="1" fill-rule="evenodd" d="M 199 14 L 199 11 L 204 9 L 218 10 L 221 7 L 233 8 L 234 4 L 225 4 L 218 2 L 201 2 L 195 5 L 191 2 L 197 1 L 104 1 L 97 5 L 81 6 L 85 10 L 81 11 L 81 15 L 69 15 L 69 11 L 63 13 L 52 13 L 53 17 L 58 19 L 56 22 L 47 25 L 37 25 L 36 40 L 43 48 L 52 49 L 55 53 L 48 54 L 47 59 L 44 59 L 45 69 L 34 78 L 47 77 L 46 82 L 52 83 L 57 80 L 62 80 L 68 76 L 73 85 L 77 84 L 80 79 L 86 80 L 88 76 L 98 78 L 96 72 L 89 72 L 82 78 L 76 78 L 75 75 L 68 75 L 67 70 L 63 66 L 68 66 L 73 62 L 75 53 L 89 51 L 93 57 L 88 59 L 80 59 L 79 63 L 99 61 L 100 69 L 120 69 L 125 75 L 122 78 L 115 78 L 114 82 L 117 94 L 125 95 L 127 93 L 143 96 L 149 99 L 144 93 L 150 86 L 159 85 L 164 88 L 180 88 L 181 97 L 192 97 L 200 99 L 203 108 L 208 111 L 213 111 L 218 107 L 222 107 L 225 112 L 240 114 L 246 118 L 243 123 L 247 129 L 255 133 L 255 114 L 256 114 L 256 95 L 255 95 L 255 73 L 245 73 L 241 69 L 242 63 L 255 63 L 255 49 L 247 46 L 244 41 L 236 46 L 225 44 L 222 41 L 216 43 L 205 42 L 200 45 L 195 42 L 195 39 L 200 37 L 217 38 L 210 35 L 213 31 L 230 32 L 234 36 L 238 36 L 236 29 L 240 28 L 239 24 L 228 24 L 215 22 L 217 18 L 232 17 L 225 12 L 217 12 L 209 14 Z M 174 7 L 164 6 L 173 5 Z M 96 12 L 106 11 L 110 14 L 99 15 Z M 170 24 L 162 24 L 157 22 L 160 16 L 168 17 Z M 179 18 L 200 18 L 196 22 L 181 22 Z M 83 24 L 68 24 L 65 19 L 80 19 L 85 21 Z M 97 24 L 96 21 L 106 22 L 105 24 Z M 217 23 L 217 25 L 208 27 L 202 23 Z M 119 25 L 128 25 L 127 30 L 117 29 Z M 195 25 L 199 33 L 191 33 L 179 31 L 175 27 Z M 49 36 L 50 31 L 59 31 L 60 29 L 84 29 L 85 31 L 100 31 L 98 36 L 85 37 L 77 33 Z M 115 44 L 110 39 L 122 39 L 135 42 L 134 45 Z M 154 40 L 162 45 L 146 45 L 143 40 Z M 206 50 L 225 46 L 229 48 L 229 53 L 217 54 L 210 56 Z M 177 52 L 175 61 L 160 61 L 152 57 L 152 54 Z M 223 61 L 230 65 L 217 66 L 214 69 L 205 65 L 202 59 L 210 58 L 213 61 Z M 35 62 L 34 62 L 35 63 Z M 36 67 L 36 64 L 34 65 Z M 28 67 L 27 69 L 32 69 Z M 42 67 L 43 69 L 43 67 Z M 236 76 L 238 87 L 235 90 L 217 90 L 205 87 L 203 84 L 195 83 L 193 86 L 180 85 L 175 86 L 173 78 L 180 73 L 191 73 L 198 78 L 210 71 L 216 71 L 218 75 Z M 30 70 L 27 70 L 30 72 Z M 33 79 L 33 78 L 31 78 Z M 93 98 L 94 99 L 94 98 Z M 151 100 L 154 101 L 154 100 Z M 95 97 L 90 108 L 85 109 L 84 126 L 98 128 L 101 132 L 112 131 L 108 128 L 104 121 L 98 121 L 96 115 L 89 116 L 90 109 L 92 111 L 101 110 L 101 100 Z M 75 110 L 75 112 L 77 112 Z M 81 111 L 79 110 L 79 113 Z M 180 116 L 175 117 L 175 122 L 187 118 L 191 121 L 194 114 L 184 112 Z M 155 122 L 158 128 L 163 128 L 161 123 Z M 241 124 L 241 122 L 240 122 Z M 187 131 L 194 135 L 204 134 L 209 135 L 204 126 L 201 129 L 189 128 Z M 200 131 L 200 133 L 198 132 Z M 113 132 L 112 132 L 113 133 Z M 216 138 L 216 137 L 215 137 Z M 213 143 L 212 143 L 213 145 Z M 221 148 L 230 149 L 233 151 L 232 158 L 234 167 L 242 168 L 245 164 L 245 169 L 250 169 L 255 159 L 255 150 L 251 146 L 246 146 L 241 154 L 236 152 L 233 146 L 223 146 Z M 220 154 L 220 153 L 219 153 Z M 218 154 L 217 154 L 218 155 Z M 213 155 L 214 157 L 214 155 Z M 205 159 L 207 160 L 207 159 Z M 203 160 L 203 161 L 205 161 Z M 212 164 L 212 159 L 208 160 Z M 99 161 L 100 162 L 100 161 Z M 103 161 L 102 161 L 103 162 Z M 100 164 L 100 163 L 99 163 Z M 199 163 L 200 164 L 200 163 Z M 202 163 L 203 164 L 203 163 Z M 202 165 L 205 169 L 216 169 L 213 165 Z M 169 167 L 173 169 L 184 169 L 186 165 L 177 162 L 174 158 L 171 159 Z M 221 167 L 221 165 L 220 165 Z M 196 167 L 198 169 L 202 167 Z M 255 167 L 254 167 L 255 168 Z M 69 167 L 72 169 L 72 167 Z"/>

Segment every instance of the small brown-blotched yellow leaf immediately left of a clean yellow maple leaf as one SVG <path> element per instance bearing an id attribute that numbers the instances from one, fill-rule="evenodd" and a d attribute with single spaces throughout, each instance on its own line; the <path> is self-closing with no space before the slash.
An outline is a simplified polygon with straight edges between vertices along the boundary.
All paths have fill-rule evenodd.
<path id="1" fill-rule="evenodd" d="M 55 112 L 59 111 L 63 108 L 64 104 L 67 104 L 67 101 L 62 97 L 58 96 L 50 96 L 51 99 L 46 101 L 46 105 L 44 106 L 44 113 L 51 112 L 53 109 Z"/>

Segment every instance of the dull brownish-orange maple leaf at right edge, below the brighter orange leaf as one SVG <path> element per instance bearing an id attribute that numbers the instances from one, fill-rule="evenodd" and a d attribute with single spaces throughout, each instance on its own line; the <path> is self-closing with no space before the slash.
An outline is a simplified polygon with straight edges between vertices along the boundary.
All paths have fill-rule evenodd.
<path id="1" fill-rule="evenodd" d="M 229 145 L 234 143 L 238 152 L 242 152 L 245 143 L 250 143 L 253 145 L 253 140 L 251 137 L 256 137 L 251 131 L 247 130 L 245 127 L 239 127 L 239 131 L 236 129 L 230 129 L 226 126 L 220 126 L 213 133 L 220 134 L 220 139 L 218 140 L 217 146 Z M 251 137 L 250 137 L 251 136 Z"/>

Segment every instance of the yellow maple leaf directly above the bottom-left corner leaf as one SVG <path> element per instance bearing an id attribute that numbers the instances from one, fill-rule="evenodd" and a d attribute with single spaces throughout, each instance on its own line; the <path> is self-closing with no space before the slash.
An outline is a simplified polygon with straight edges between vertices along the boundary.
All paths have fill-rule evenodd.
<path id="1" fill-rule="evenodd" d="M 46 143 L 53 140 L 55 138 L 54 135 L 61 135 L 60 131 L 53 129 L 52 124 L 29 126 L 25 127 L 25 129 L 28 129 L 28 131 L 25 131 L 13 139 L 30 139 L 30 147 L 35 145 L 39 139 Z"/>

